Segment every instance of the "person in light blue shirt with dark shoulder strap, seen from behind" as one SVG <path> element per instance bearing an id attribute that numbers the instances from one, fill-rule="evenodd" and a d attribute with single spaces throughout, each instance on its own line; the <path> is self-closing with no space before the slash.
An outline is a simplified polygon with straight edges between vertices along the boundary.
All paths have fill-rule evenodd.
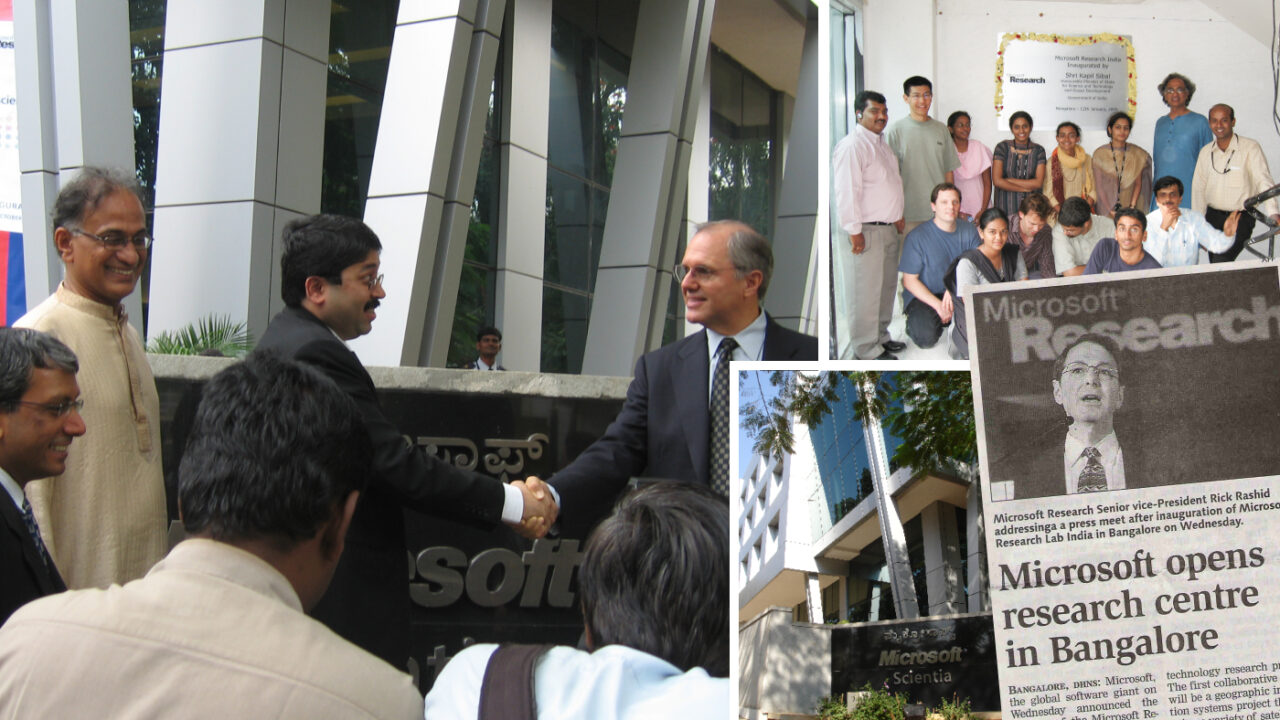
<path id="1" fill-rule="evenodd" d="M 723 716 L 732 702 L 728 575 L 723 497 L 654 483 L 623 498 L 591 534 L 579 570 L 590 651 L 554 647 L 534 661 L 536 716 Z M 495 651 L 477 644 L 453 657 L 426 697 L 426 720 L 476 717 L 498 683 L 522 682 Z M 521 716 L 521 708 L 502 710 Z"/>

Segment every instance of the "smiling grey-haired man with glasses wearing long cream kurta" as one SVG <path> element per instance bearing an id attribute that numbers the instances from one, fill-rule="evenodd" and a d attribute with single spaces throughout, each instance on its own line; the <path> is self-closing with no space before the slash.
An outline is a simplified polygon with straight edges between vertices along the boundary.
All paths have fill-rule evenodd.
<path id="1" fill-rule="evenodd" d="M 79 357 L 84 421 L 60 475 L 27 497 L 70 588 L 141 578 L 168 550 L 160 401 L 122 301 L 151 249 L 131 176 L 84 168 L 54 201 L 54 246 L 65 277 L 15 327 L 54 336 Z"/>

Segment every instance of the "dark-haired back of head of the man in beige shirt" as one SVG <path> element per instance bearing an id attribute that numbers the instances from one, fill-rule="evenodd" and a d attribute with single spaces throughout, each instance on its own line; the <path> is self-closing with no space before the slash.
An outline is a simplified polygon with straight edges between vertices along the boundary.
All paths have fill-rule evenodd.
<path id="1" fill-rule="evenodd" d="M 342 516 L 364 489 L 371 456 L 355 402 L 333 380 L 301 363 L 253 354 L 205 387 L 179 468 L 183 527 L 271 555 L 265 559 L 273 564 L 319 538 L 326 577 L 289 578 L 310 607 L 338 561 Z M 334 536 L 337 525 L 342 533 Z"/>

